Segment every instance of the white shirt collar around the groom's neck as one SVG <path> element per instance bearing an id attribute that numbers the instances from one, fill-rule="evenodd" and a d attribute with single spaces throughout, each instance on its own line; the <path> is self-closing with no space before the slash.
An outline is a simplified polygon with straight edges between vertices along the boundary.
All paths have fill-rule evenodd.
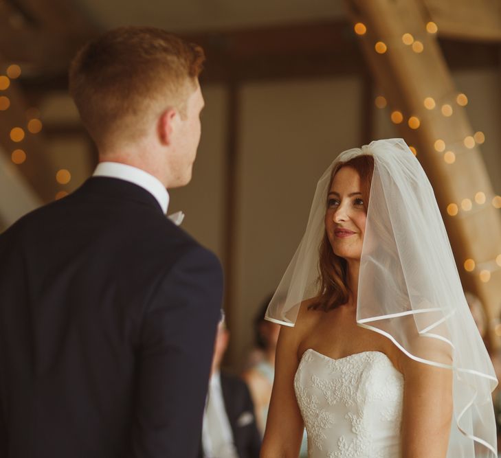
<path id="1" fill-rule="evenodd" d="M 120 180 L 134 183 L 153 194 L 162 208 L 164 214 L 167 213 L 169 205 L 169 194 L 162 181 L 156 176 L 133 167 L 133 165 L 122 164 L 120 162 L 100 162 L 94 170 L 93 176 L 108 176 L 109 178 L 118 178 Z"/>

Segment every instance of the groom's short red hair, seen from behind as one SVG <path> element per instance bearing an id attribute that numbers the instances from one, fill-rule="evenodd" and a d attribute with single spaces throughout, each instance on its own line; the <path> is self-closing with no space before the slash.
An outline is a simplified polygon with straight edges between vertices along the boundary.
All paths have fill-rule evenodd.
<path id="1" fill-rule="evenodd" d="M 135 141 L 168 107 L 184 115 L 203 49 L 155 27 L 120 27 L 87 43 L 71 62 L 69 91 L 100 148 Z"/>

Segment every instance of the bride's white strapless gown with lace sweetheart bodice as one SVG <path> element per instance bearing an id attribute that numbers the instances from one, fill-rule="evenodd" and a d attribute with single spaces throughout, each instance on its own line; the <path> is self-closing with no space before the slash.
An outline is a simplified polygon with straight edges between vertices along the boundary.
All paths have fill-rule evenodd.
<path id="1" fill-rule="evenodd" d="M 294 378 L 309 458 L 399 458 L 403 377 L 386 354 L 307 350 Z"/>

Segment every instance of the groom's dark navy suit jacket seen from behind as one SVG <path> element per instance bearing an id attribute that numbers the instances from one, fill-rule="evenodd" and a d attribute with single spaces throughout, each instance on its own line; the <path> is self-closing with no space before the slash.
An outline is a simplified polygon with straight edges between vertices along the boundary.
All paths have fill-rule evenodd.
<path id="1" fill-rule="evenodd" d="M 196 457 L 221 284 L 127 181 L 21 218 L 0 236 L 0 457 Z"/>

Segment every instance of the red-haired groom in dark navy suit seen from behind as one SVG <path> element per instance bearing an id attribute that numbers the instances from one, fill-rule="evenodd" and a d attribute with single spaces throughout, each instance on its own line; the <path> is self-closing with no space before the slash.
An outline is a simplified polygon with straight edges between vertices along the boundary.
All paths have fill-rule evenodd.
<path id="1" fill-rule="evenodd" d="M 72 62 L 100 163 L 0 236 L 0 457 L 197 456 L 222 274 L 165 214 L 192 175 L 202 62 L 150 27 Z"/>

